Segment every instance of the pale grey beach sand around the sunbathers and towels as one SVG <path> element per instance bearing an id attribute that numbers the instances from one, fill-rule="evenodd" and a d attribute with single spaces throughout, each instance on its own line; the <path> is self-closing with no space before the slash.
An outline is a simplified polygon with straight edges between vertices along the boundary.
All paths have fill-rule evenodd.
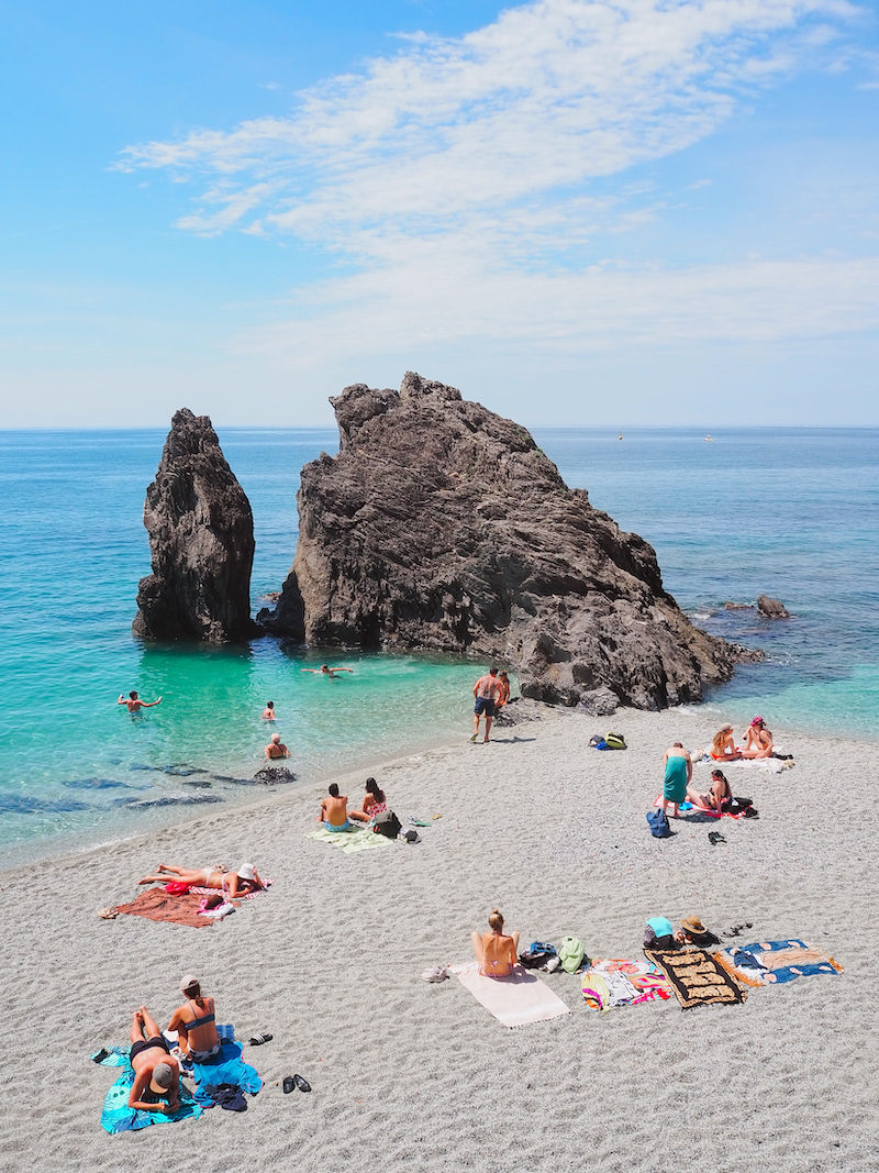
<path id="1" fill-rule="evenodd" d="M 782 737 L 797 766 L 730 771 L 761 819 L 677 823 L 645 812 L 680 738 L 702 714 L 565 716 L 379 766 L 393 807 L 443 818 L 416 846 L 345 855 L 305 839 L 315 793 L 212 814 L 101 852 L 0 877 L 4 1119 L 0 1168 L 16 1171 L 472 1169 L 766 1171 L 879 1168 L 875 1072 L 879 881 L 875 746 Z M 594 730 L 627 752 L 587 748 Z M 707 769 L 702 767 L 702 778 Z M 364 774 L 346 779 L 362 794 Z M 159 860 L 253 859 L 275 877 L 211 929 L 97 908 L 131 900 Z M 523 943 L 579 936 L 593 957 L 640 956 L 643 922 L 695 913 L 742 940 L 802 936 L 841 977 L 750 992 L 737 1008 L 676 1001 L 590 1012 L 574 976 L 547 983 L 573 1013 L 506 1030 L 452 979 L 498 904 Z M 248 1111 L 110 1137 L 115 1078 L 90 1051 L 128 1037 L 141 1002 L 164 1025 L 192 970 L 266 1080 Z M 300 1072 L 312 1094 L 281 1094 Z"/>

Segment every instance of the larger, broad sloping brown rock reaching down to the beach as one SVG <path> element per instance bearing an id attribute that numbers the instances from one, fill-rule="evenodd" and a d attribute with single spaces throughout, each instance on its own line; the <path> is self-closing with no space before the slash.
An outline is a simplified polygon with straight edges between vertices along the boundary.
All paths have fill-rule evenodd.
<path id="1" fill-rule="evenodd" d="M 400 393 L 357 384 L 331 402 L 340 453 L 302 469 L 270 630 L 497 659 L 525 696 L 593 712 L 731 676 L 735 650 L 687 621 L 653 548 L 568 489 L 525 428 L 411 372 Z"/>

